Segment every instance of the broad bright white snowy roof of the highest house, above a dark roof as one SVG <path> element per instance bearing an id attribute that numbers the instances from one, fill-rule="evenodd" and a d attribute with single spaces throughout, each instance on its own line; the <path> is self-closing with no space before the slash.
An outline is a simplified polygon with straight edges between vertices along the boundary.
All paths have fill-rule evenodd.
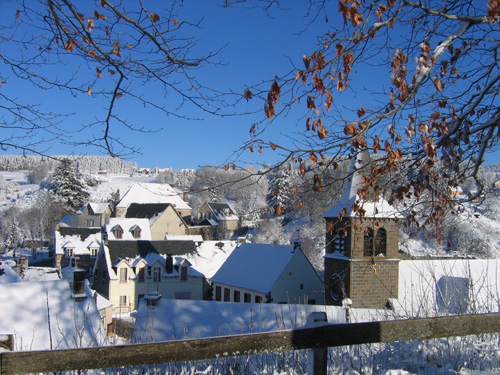
<path id="1" fill-rule="evenodd" d="M 126 208 L 132 203 L 170 203 L 177 210 L 191 207 L 168 184 L 136 183 L 125 193 L 117 207 Z"/>

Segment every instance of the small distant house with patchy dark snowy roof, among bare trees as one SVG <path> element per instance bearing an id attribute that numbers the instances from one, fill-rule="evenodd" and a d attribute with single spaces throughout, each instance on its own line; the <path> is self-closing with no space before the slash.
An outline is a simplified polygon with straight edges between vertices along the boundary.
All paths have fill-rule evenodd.
<path id="1" fill-rule="evenodd" d="M 227 203 L 205 202 L 192 218 L 193 225 L 208 227 L 205 239 L 228 239 L 239 229 L 239 218 Z M 207 238 L 210 237 L 210 238 Z"/>

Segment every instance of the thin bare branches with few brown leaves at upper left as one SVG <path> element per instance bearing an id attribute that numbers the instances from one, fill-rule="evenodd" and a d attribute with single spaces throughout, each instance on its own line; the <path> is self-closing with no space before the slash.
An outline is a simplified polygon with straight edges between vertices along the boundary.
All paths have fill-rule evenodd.
<path id="1" fill-rule="evenodd" d="M 121 112 L 124 107 L 139 104 L 174 117 L 186 116 L 180 111 L 186 104 L 209 113 L 219 111 L 215 92 L 196 77 L 196 69 L 216 63 L 217 51 L 200 55 L 194 38 L 199 22 L 176 19 L 175 2 L 170 8 L 158 4 L 158 9 L 142 1 L 14 4 L 12 23 L 0 26 L 3 149 L 44 154 L 57 141 L 126 155 L 138 147 L 124 143 L 122 132 L 155 129 L 128 122 Z M 26 82 L 35 90 L 62 90 L 97 100 L 104 109 L 95 113 L 94 122 L 78 129 L 88 131 L 90 139 L 60 127 L 70 110 L 58 108 L 53 113 L 9 91 L 9 86 Z"/>

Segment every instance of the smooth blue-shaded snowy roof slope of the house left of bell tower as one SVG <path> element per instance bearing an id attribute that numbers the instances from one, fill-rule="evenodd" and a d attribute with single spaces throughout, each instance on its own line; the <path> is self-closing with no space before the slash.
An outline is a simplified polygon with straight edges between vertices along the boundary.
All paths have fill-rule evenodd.
<path id="1" fill-rule="evenodd" d="M 268 293 L 297 251 L 293 246 L 243 243 L 231 253 L 211 281 Z"/>

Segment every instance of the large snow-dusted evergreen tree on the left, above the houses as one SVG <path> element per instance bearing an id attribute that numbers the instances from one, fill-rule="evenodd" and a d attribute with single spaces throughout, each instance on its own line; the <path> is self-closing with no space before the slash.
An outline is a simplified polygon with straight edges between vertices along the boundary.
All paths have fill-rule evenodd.
<path id="1" fill-rule="evenodd" d="M 88 201 L 89 193 L 83 176 L 69 159 L 63 159 L 56 167 L 50 191 L 54 193 L 68 211 L 75 212 Z"/>

